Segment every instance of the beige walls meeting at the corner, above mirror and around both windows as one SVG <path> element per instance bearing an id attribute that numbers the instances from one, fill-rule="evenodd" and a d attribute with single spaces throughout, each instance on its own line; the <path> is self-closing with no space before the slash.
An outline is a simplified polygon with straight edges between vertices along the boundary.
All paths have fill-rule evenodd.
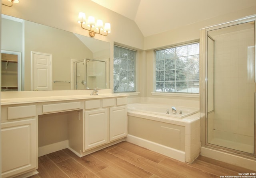
<path id="1" fill-rule="evenodd" d="M 63 0 L 62 2 L 52 0 L 22 1 L 19 4 L 15 4 L 12 8 L 3 7 L 2 13 L 86 36 L 88 36 L 88 32 L 81 29 L 80 25 L 76 22 L 78 12 L 85 12 L 86 16 L 92 15 L 96 19 L 101 18 L 103 22 L 110 22 L 111 33 L 107 37 L 102 35 L 95 35 L 94 37 L 95 39 L 110 42 L 110 63 L 113 61 L 114 43 L 138 49 L 136 88 L 137 91 L 140 92 L 139 96 L 178 100 L 179 98 L 169 96 L 162 97 L 151 95 L 151 92 L 154 91 L 153 49 L 199 39 L 200 28 L 255 14 L 255 9 L 256 6 L 148 37 L 142 35 L 134 21 L 99 6 L 90 0 L 80 0 L 79 2 L 70 0 Z M 203 15 L 204 14 L 202 14 L 202 16 Z M 113 66 L 110 65 L 111 82 L 112 78 Z M 110 83 L 110 88 L 112 88 L 112 83 Z M 186 98 L 181 99 L 186 101 Z M 188 100 L 199 102 L 199 98 L 189 98 Z"/>

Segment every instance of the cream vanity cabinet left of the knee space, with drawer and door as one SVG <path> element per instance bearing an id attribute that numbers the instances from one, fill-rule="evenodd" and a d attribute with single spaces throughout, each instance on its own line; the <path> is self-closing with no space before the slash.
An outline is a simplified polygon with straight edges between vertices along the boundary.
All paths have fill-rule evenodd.
<path id="1" fill-rule="evenodd" d="M 2 107 L 1 116 L 2 178 L 36 173 L 36 105 L 5 106 Z"/>

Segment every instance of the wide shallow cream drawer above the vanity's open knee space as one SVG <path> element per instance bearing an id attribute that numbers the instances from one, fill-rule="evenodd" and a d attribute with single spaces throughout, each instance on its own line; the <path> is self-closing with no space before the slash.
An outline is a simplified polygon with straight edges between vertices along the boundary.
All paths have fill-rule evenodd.
<path id="1" fill-rule="evenodd" d="M 69 103 L 58 103 L 58 104 L 44 104 L 43 113 L 69 111 L 81 108 L 81 102 L 69 102 Z"/>

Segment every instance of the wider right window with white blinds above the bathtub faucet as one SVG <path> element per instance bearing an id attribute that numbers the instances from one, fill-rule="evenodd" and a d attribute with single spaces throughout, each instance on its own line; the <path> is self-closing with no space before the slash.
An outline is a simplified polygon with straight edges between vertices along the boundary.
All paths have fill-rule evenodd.
<path id="1" fill-rule="evenodd" d="M 199 93 L 199 43 L 156 51 L 155 92 Z"/>

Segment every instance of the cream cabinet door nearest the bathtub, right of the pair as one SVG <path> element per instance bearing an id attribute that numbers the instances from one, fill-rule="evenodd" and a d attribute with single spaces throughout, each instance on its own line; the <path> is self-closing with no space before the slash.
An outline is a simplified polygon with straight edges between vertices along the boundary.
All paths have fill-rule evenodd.
<path id="1" fill-rule="evenodd" d="M 110 141 L 127 136 L 127 106 L 110 108 Z"/>

